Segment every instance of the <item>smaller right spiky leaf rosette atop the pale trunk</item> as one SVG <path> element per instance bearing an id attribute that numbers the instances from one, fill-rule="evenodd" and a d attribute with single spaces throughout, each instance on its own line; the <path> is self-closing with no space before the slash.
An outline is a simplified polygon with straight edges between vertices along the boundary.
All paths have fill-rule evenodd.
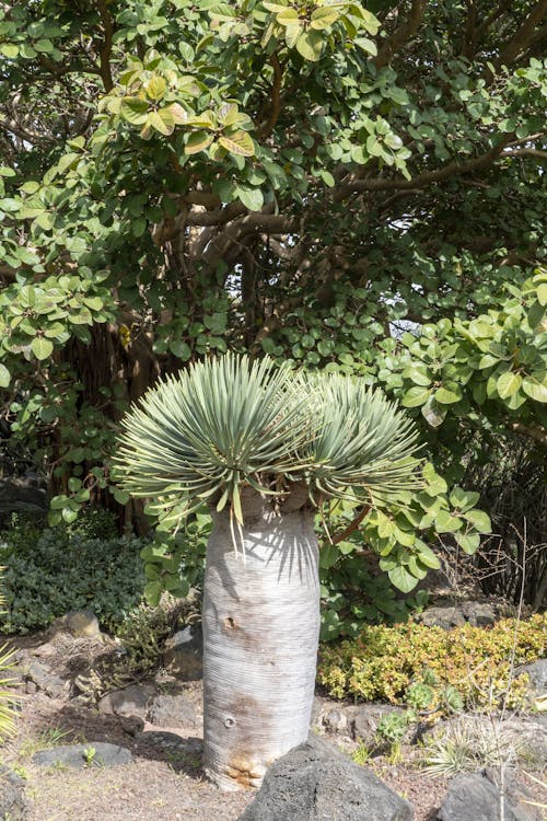
<path id="1" fill-rule="evenodd" d="M 310 377 L 318 425 L 302 453 L 312 493 L 394 498 L 420 486 L 418 431 L 380 390 L 338 373 Z"/>

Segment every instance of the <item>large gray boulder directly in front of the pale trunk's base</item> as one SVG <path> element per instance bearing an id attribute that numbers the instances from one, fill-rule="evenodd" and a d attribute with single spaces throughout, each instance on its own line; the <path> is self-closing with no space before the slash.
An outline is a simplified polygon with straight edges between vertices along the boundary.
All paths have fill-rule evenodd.
<path id="1" fill-rule="evenodd" d="M 240 821 L 412 821 L 408 801 L 321 738 L 276 761 Z"/>

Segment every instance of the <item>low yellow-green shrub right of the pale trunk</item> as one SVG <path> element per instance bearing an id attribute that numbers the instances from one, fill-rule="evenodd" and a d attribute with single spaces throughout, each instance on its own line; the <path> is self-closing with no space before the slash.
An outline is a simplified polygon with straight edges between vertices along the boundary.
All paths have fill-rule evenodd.
<path id="1" fill-rule="evenodd" d="M 440 685 L 454 687 L 465 706 L 494 707 L 508 693 L 513 646 L 516 664 L 539 658 L 546 627 L 545 613 L 519 623 L 507 618 L 491 628 L 465 624 L 444 631 L 412 622 L 370 626 L 356 639 L 323 645 L 317 680 L 335 698 L 397 704 L 427 670 Z M 510 706 L 522 702 L 525 689 L 525 677 L 511 682 Z"/>

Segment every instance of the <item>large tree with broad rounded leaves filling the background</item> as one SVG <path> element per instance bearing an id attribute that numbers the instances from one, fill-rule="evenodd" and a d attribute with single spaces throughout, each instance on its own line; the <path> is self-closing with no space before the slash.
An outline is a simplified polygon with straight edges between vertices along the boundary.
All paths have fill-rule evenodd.
<path id="1" fill-rule="evenodd" d="M 0 14 L 0 390 L 10 447 L 50 476 L 53 519 L 107 498 L 128 401 L 235 349 L 380 380 L 407 405 L 430 391 L 416 414 L 450 490 L 432 471 L 414 507 L 348 510 L 347 524 L 405 590 L 434 560 L 431 529 L 476 550 L 488 524 L 453 487 L 459 446 L 487 426 L 544 437 L 545 282 L 533 371 L 510 369 L 519 388 L 499 371 L 488 401 L 464 390 L 488 370 L 477 360 L 472 379 L 465 344 L 440 345 L 439 379 L 403 335 L 468 333 L 507 286 L 528 299 L 545 253 L 545 0 Z M 428 385 L 397 372 L 400 351 Z"/>

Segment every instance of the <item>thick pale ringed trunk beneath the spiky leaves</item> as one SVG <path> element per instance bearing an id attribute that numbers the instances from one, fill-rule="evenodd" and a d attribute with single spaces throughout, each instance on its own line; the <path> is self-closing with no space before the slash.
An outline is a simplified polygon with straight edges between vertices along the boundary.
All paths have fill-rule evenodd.
<path id="1" fill-rule="evenodd" d="M 307 738 L 319 634 L 313 516 L 254 495 L 234 551 L 216 514 L 203 595 L 205 770 L 223 789 L 259 786 Z"/>

